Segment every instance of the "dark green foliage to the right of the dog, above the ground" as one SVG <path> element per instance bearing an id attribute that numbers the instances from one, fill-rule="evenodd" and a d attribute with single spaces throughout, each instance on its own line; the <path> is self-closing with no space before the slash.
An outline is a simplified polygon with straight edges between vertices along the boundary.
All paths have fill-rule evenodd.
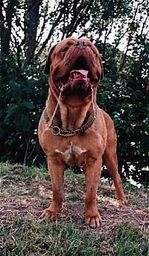
<path id="1" fill-rule="evenodd" d="M 138 47 L 142 47 L 141 44 Z M 105 62 L 114 51 L 111 46 L 107 48 Z M 118 61 L 112 61 L 111 68 L 105 68 L 104 81 L 98 88 L 98 105 L 110 114 L 115 124 L 120 173 L 148 186 L 148 44 L 137 56 L 139 61 L 135 51 L 127 56 L 121 72 Z M 110 61 L 107 63 L 109 65 Z"/>

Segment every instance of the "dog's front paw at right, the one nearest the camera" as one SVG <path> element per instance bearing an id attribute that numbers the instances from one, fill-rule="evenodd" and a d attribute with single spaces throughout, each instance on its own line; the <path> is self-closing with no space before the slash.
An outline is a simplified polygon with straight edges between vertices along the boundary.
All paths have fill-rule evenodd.
<path id="1" fill-rule="evenodd" d="M 95 210 L 92 213 L 86 213 L 85 222 L 90 228 L 99 228 L 101 225 L 101 216 L 98 213 L 98 210 Z"/>

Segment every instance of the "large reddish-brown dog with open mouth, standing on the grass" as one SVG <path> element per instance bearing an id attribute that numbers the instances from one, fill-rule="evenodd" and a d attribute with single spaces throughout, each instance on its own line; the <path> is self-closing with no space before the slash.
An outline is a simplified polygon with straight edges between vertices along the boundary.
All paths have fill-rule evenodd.
<path id="1" fill-rule="evenodd" d="M 38 134 L 48 158 L 53 198 L 41 218 L 58 216 L 66 165 L 78 165 L 86 177 L 85 221 L 96 228 L 101 222 L 96 193 L 102 162 L 110 171 L 118 200 L 126 202 L 118 174 L 115 129 L 110 116 L 96 103 L 101 57 L 89 40 L 70 37 L 51 48 L 45 73 L 50 88 Z"/>

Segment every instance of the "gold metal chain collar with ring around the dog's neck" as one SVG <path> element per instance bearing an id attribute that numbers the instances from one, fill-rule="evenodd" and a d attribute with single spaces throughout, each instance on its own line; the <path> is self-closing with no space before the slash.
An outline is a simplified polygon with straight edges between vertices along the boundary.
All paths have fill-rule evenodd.
<path id="1" fill-rule="evenodd" d="M 92 124 L 95 121 L 96 115 L 97 115 L 97 112 L 94 109 L 92 114 L 89 116 L 88 120 L 86 121 L 86 123 L 83 124 L 83 126 L 81 126 L 79 129 L 75 129 L 75 130 L 69 130 L 69 129 L 66 130 L 66 129 L 61 129 L 60 127 L 57 127 L 54 124 L 49 124 L 51 122 L 50 122 L 50 119 L 48 118 L 48 112 L 46 109 L 44 110 L 44 118 L 45 118 L 46 123 L 48 124 L 48 127 L 51 128 L 51 132 L 54 135 L 61 135 L 64 137 L 70 137 L 70 136 L 74 136 L 76 134 L 84 132 L 86 129 L 88 129 L 89 127 L 92 126 Z"/>

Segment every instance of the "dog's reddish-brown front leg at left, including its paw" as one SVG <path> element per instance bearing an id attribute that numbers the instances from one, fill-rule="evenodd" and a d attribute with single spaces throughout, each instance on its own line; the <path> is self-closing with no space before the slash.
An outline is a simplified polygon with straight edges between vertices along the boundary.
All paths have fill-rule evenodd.
<path id="1" fill-rule="evenodd" d="M 66 166 L 63 162 L 55 163 L 48 158 L 48 171 L 51 176 L 51 185 L 52 185 L 52 201 L 48 208 L 43 210 L 40 219 L 51 219 L 54 220 L 57 218 L 58 214 L 62 210 L 63 206 L 63 175 Z"/>

